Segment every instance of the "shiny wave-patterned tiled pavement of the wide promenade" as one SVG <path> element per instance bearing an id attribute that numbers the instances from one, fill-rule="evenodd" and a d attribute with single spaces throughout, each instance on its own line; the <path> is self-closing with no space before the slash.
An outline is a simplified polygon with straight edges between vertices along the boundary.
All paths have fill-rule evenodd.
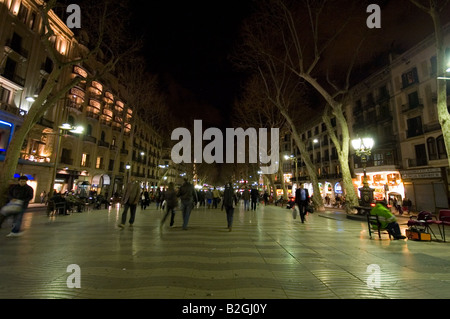
<path id="1" fill-rule="evenodd" d="M 287 209 L 240 206 L 232 232 L 219 209 L 194 210 L 187 231 L 179 212 L 169 228 L 160 227 L 162 211 L 138 208 L 134 227 L 122 230 L 120 214 L 27 213 L 19 238 L 5 237 L 6 223 L 0 298 L 450 298 L 450 243 L 369 239 L 366 223 L 342 212 L 302 224 Z"/>

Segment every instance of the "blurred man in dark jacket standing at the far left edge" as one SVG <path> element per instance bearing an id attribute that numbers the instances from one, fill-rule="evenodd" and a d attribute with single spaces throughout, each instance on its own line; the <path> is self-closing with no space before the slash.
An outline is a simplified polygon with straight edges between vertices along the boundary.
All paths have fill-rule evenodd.
<path id="1" fill-rule="evenodd" d="M 21 203 L 21 209 L 19 212 L 14 214 L 13 217 L 13 228 L 11 232 L 6 235 L 7 237 L 18 237 L 23 234 L 20 231 L 22 225 L 22 218 L 25 210 L 28 208 L 28 203 L 33 199 L 34 190 L 27 184 L 28 178 L 26 176 L 19 177 L 19 183 L 11 185 L 8 192 L 9 202 Z M 3 221 L 8 217 L 7 215 L 0 214 L 0 227 Z"/>

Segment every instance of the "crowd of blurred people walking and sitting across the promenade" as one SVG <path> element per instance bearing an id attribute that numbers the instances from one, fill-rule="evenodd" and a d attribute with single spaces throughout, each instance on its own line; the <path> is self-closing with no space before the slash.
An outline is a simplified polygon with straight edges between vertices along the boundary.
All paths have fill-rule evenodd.
<path id="1" fill-rule="evenodd" d="M 12 184 L 9 187 L 8 192 L 8 204 L 2 207 L 0 211 L 0 227 L 4 220 L 13 216 L 13 229 L 8 235 L 10 237 L 19 236 L 21 234 L 21 220 L 23 213 L 28 207 L 28 203 L 34 197 L 33 188 L 27 184 L 27 177 L 21 176 L 17 184 Z M 86 193 L 65 192 L 64 194 L 55 191 L 49 196 L 46 192 L 40 194 L 41 203 L 47 204 L 47 212 L 55 212 L 58 214 L 68 214 L 68 211 L 83 211 L 86 204 L 92 204 L 93 208 L 100 209 L 102 205 L 108 208 L 110 204 L 120 202 L 123 207 L 123 212 L 121 216 L 119 228 L 124 228 L 128 212 L 130 216 L 128 223 L 133 226 L 136 218 L 136 209 L 140 204 L 141 210 L 145 210 L 152 202 L 156 203 L 156 209 L 164 210 L 165 215 L 161 220 L 161 225 L 163 225 L 166 219 L 170 216 L 170 226 L 174 225 L 175 212 L 179 210 L 182 214 L 183 224 L 182 229 L 187 230 L 189 224 L 189 218 L 191 211 L 194 207 L 200 208 L 205 207 L 208 209 L 218 209 L 219 207 L 226 211 L 226 221 L 227 229 L 232 230 L 233 227 L 233 215 L 234 208 L 237 203 L 242 200 L 244 204 L 245 211 L 255 211 L 257 204 L 263 202 L 267 205 L 270 202 L 270 197 L 267 192 L 260 193 L 254 187 L 245 186 L 242 192 L 236 192 L 233 189 L 231 183 L 225 185 L 223 192 L 219 191 L 216 187 L 213 189 L 206 190 L 196 190 L 195 187 L 187 180 L 179 187 L 175 188 L 173 183 L 169 183 L 167 189 L 156 189 L 155 192 L 148 192 L 147 190 L 142 190 L 140 184 L 133 177 L 130 182 L 126 185 L 124 195 L 121 197 L 118 193 L 115 193 L 111 199 L 107 199 L 102 194 L 97 194 L 95 191 L 86 195 Z M 337 202 L 342 203 L 345 201 L 344 198 L 337 197 L 335 199 Z M 327 198 L 325 198 L 326 203 Z M 300 185 L 295 192 L 295 202 L 293 203 L 294 218 L 298 213 L 301 218 L 301 222 L 305 222 L 305 216 L 307 212 L 312 212 L 312 198 L 309 195 L 308 189 Z M 402 203 L 395 200 L 391 203 L 392 206 L 401 215 L 404 212 L 410 212 L 412 203 L 409 199 L 405 198 Z M 387 203 L 384 205 L 387 209 Z M 15 209 L 15 211 L 13 211 Z M 374 214 L 381 212 L 381 215 L 386 215 L 386 209 L 377 205 L 373 209 Z M 384 216 L 383 215 L 383 216 Z M 392 219 L 392 223 L 395 220 L 392 218 L 392 214 L 389 216 L 389 221 Z M 389 225 L 394 237 L 398 237 L 398 228 L 395 223 Z"/>

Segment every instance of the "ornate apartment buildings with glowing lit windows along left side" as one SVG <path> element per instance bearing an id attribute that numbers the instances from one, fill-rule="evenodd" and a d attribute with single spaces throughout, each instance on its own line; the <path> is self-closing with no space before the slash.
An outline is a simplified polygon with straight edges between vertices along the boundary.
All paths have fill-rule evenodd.
<path id="1" fill-rule="evenodd" d="M 67 58 L 76 56 L 83 45 L 53 12 L 50 21 L 55 48 Z M 0 0 L 1 161 L 53 67 L 40 41 L 42 26 L 36 1 Z M 30 178 L 36 197 L 52 186 L 111 194 L 120 193 L 130 176 L 145 188 L 159 180 L 161 136 L 139 117 L 139 106 L 127 103 L 126 87 L 113 73 L 85 80 L 101 66 L 89 61 L 61 76 L 60 87 L 74 77 L 81 82 L 44 114 L 23 145 L 16 175 Z M 63 124 L 84 131 L 73 133 Z"/>

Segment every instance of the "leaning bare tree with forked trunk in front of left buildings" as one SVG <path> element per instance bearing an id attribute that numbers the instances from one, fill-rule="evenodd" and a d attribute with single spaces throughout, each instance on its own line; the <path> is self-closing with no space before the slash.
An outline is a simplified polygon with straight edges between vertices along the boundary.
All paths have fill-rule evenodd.
<path id="1" fill-rule="evenodd" d="M 86 20 L 98 22 L 96 28 L 92 27 L 89 29 L 89 33 L 92 32 L 90 43 L 87 47 L 79 45 L 76 48 L 77 52 L 73 57 L 61 54 L 52 42 L 52 39 L 55 37 L 55 30 L 53 29 L 51 17 L 54 16 L 52 10 L 57 7 L 57 5 L 56 0 L 49 0 L 44 1 L 39 7 L 45 30 L 41 36 L 41 41 L 49 58 L 53 62 L 53 69 L 49 74 L 43 89 L 28 110 L 23 124 L 15 131 L 8 146 L 3 165 L 3 172 L 0 175 L 1 194 L 6 193 L 7 181 L 13 178 L 18 164 L 18 158 L 20 157 L 20 151 L 28 133 L 42 118 L 45 112 L 56 105 L 72 87 L 81 81 L 92 81 L 101 78 L 103 75 L 113 70 L 120 59 L 137 49 L 135 44 L 128 44 L 127 47 L 125 46 L 125 38 L 120 34 L 120 31 L 122 31 L 122 23 L 120 23 L 118 17 L 119 12 L 117 12 L 117 7 L 114 6 L 114 4 L 111 6 L 108 1 L 100 1 L 97 5 L 91 7 L 90 10 L 85 10 L 87 15 L 93 15 Z M 113 28 L 115 34 L 111 35 L 110 32 Z M 73 68 L 74 65 L 98 60 L 103 61 L 103 63 L 96 63 L 98 68 L 93 74 L 89 74 L 86 78 L 74 77 L 72 80 L 67 81 L 67 83 L 62 82 L 65 72 Z M 6 199 L 3 198 L 0 204 L 3 204 L 5 200 Z"/>

